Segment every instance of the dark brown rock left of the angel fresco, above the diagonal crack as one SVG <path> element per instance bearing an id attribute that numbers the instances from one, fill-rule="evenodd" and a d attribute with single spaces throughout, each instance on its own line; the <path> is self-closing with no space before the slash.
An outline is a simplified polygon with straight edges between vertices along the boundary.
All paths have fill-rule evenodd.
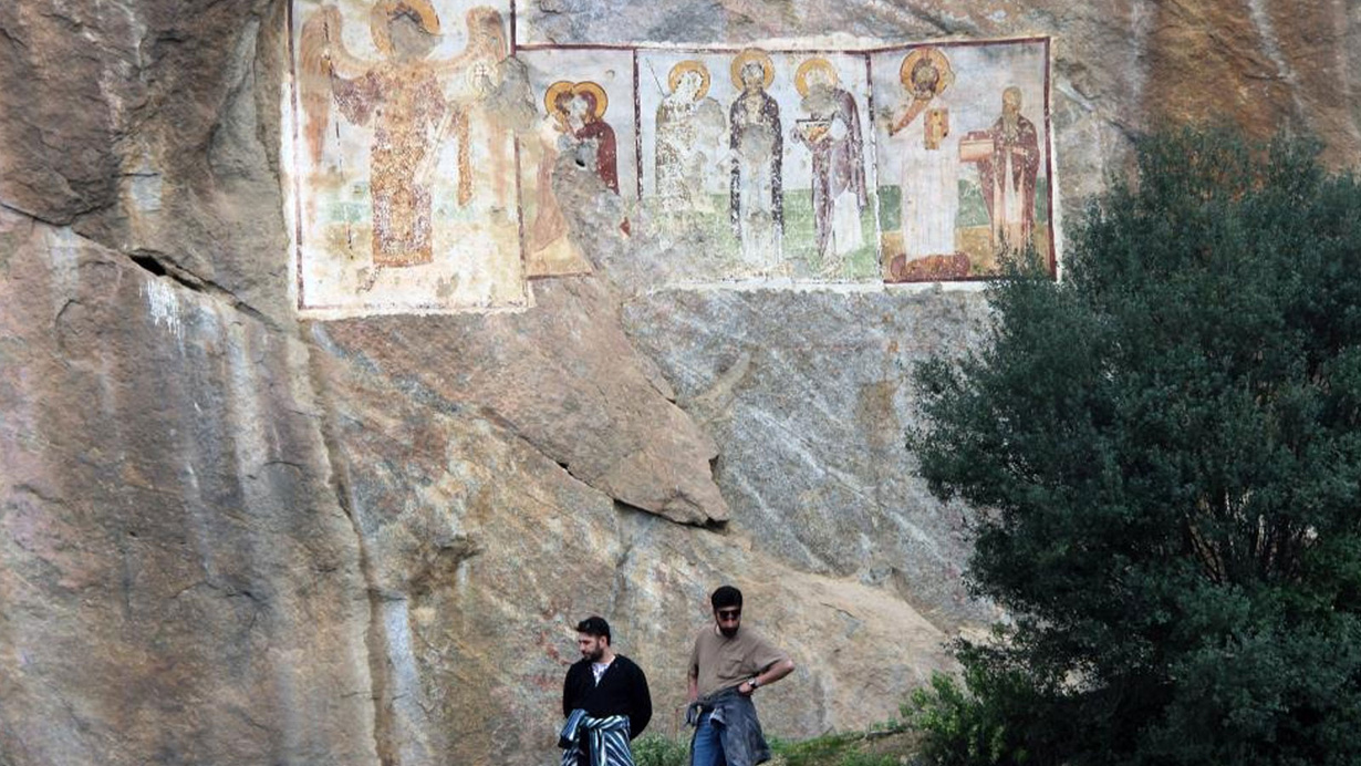
<path id="1" fill-rule="evenodd" d="M 272 137 L 283 11 L 4 4 L 0 203 L 290 322 Z"/>

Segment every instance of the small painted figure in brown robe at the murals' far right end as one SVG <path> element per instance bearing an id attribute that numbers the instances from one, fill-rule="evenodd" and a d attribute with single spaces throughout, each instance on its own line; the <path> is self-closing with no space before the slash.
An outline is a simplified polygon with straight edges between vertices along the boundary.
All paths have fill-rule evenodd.
<path id="1" fill-rule="evenodd" d="M 974 162 L 983 201 L 992 220 L 994 250 L 1030 245 L 1040 139 L 1034 122 L 1021 114 L 1021 88 L 1013 86 L 1002 91 L 1002 116 L 987 131 L 969 133 L 968 137 L 991 143 L 991 151 L 980 152 Z"/>

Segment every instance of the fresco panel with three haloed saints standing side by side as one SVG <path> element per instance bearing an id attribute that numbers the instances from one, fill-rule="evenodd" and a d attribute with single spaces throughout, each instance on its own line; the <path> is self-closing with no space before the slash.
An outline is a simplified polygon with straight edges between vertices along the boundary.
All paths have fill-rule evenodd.
<path id="1" fill-rule="evenodd" d="M 879 279 L 863 54 L 638 50 L 642 197 L 694 280 Z"/>

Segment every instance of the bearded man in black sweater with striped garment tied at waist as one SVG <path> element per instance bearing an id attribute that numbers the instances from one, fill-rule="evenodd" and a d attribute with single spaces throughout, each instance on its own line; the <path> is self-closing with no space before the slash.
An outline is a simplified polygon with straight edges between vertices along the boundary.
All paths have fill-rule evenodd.
<path id="1" fill-rule="evenodd" d="M 610 644 L 610 623 L 591 616 L 577 623 L 581 659 L 568 668 L 562 682 L 563 766 L 592 762 L 600 748 L 608 766 L 632 766 L 629 742 L 642 733 L 652 718 L 648 678 L 633 660 L 615 654 Z"/>

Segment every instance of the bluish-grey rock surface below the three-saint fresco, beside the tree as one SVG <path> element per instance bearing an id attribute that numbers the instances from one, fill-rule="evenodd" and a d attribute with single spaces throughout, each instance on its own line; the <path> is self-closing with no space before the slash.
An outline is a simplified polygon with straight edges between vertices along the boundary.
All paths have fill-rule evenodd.
<path id="1" fill-rule="evenodd" d="M 964 592 L 961 509 L 930 497 L 906 449 L 911 373 L 972 346 L 984 310 L 965 291 L 672 290 L 629 302 L 625 324 L 715 434 L 735 531 L 791 566 L 896 589 L 950 631 L 991 615 Z"/>

